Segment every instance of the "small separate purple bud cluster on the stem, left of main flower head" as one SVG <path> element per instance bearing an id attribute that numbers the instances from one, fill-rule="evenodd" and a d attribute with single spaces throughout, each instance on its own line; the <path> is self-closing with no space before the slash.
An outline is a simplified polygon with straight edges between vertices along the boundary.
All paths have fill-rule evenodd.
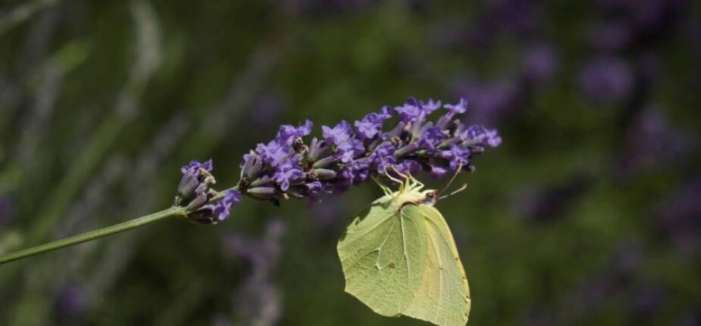
<path id="1" fill-rule="evenodd" d="M 192 161 L 180 171 L 182 178 L 177 187 L 175 205 L 186 208 L 188 219 L 200 224 L 217 224 L 229 218 L 231 208 L 241 202 L 241 193 L 230 189 L 217 203 L 210 203 L 217 196 L 212 185 L 217 183 L 210 173 L 214 169 L 212 160 L 200 163 Z"/>

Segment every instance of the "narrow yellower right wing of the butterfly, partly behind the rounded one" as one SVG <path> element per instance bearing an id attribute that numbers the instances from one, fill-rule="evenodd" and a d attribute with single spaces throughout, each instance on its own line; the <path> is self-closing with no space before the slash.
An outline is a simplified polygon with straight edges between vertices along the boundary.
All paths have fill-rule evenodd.
<path id="1" fill-rule="evenodd" d="M 425 269 L 414 301 L 403 315 L 441 326 L 463 326 L 470 314 L 470 289 L 448 224 L 428 205 L 406 205 L 402 214 L 428 237 Z"/>

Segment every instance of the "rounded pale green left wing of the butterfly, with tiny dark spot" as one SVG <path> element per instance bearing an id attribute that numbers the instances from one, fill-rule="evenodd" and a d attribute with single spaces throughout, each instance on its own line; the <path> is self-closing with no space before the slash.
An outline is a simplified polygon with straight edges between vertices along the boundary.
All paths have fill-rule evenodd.
<path id="1" fill-rule="evenodd" d="M 414 302 L 428 266 L 424 229 L 397 212 L 393 195 L 363 210 L 336 247 L 346 292 L 380 315 L 404 313 Z"/>

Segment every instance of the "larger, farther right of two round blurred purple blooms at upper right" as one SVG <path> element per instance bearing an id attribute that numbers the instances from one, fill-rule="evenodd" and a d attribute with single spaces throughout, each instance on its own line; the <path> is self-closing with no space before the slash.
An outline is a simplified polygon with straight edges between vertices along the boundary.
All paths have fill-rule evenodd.
<path id="1" fill-rule="evenodd" d="M 633 89 L 634 76 L 627 62 L 618 57 L 597 57 L 580 72 L 580 87 L 587 99 L 600 104 L 626 100 Z"/>

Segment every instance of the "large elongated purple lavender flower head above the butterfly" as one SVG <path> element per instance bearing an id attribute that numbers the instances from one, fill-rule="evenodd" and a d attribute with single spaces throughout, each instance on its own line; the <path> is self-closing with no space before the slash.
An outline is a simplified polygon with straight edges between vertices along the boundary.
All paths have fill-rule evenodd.
<path id="1" fill-rule="evenodd" d="M 435 122 L 428 116 L 440 108 Z M 322 137 L 306 143 L 312 123 L 283 125 L 267 144 L 258 144 L 243 158 L 238 189 L 247 196 L 279 203 L 280 199 L 318 200 L 323 193 L 339 193 L 371 177 L 393 173 L 430 172 L 443 177 L 459 169 L 474 170 L 473 155 L 501 143 L 496 130 L 464 125 L 456 117 L 468 102 L 442 105 L 409 98 L 400 107 L 383 107 L 355 121 L 322 126 Z M 397 114 L 392 128 L 383 128 Z"/>

